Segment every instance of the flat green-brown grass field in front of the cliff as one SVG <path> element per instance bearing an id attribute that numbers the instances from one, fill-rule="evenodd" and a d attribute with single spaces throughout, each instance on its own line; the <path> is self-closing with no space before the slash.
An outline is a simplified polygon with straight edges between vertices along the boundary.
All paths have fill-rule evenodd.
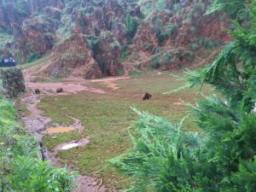
<path id="1" fill-rule="evenodd" d="M 84 136 L 90 136 L 90 143 L 83 148 L 72 148 L 61 151 L 63 163 L 77 166 L 82 173 L 97 175 L 103 178 L 107 186 L 111 183 L 117 188 L 123 188 L 127 184 L 112 168 L 105 166 L 109 159 L 124 154 L 131 147 L 127 127 L 136 119 L 135 113 L 130 106 L 140 110 L 147 110 L 155 115 L 178 122 L 188 113 L 188 108 L 180 105 L 180 100 L 194 102 L 198 98 L 198 90 L 183 90 L 177 94 L 164 96 L 162 93 L 176 89 L 181 85 L 168 74 L 149 73 L 133 76 L 131 79 L 120 80 L 117 86 L 119 90 L 109 90 L 106 84 L 95 83 L 91 86 L 103 88 L 108 94 L 79 93 L 70 96 L 49 96 L 39 104 L 46 115 L 52 119 L 51 124 L 72 125 L 73 120 L 67 118 L 72 116 L 80 119 L 84 125 Z M 153 97 L 145 102 L 141 97 L 145 91 L 150 92 Z M 203 92 L 207 95 L 210 88 L 206 87 Z M 61 108 L 66 108 L 62 109 Z M 196 125 L 190 116 L 184 125 L 188 131 L 197 131 Z M 45 137 L 44 143 L 52 149 L 56 144 L 67 142 L 77 133 L 68 133 Z M 69 140 L 70 139 L 70 140 Z M 102 170 L 102 171 L 101 171 Z"/>

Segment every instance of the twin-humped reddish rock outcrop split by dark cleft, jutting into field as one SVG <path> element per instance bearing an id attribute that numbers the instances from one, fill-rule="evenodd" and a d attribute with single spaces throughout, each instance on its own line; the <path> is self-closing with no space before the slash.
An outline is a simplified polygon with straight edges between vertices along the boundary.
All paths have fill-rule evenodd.
<path id="1" fill-rule="evenodd" d="M 84 79 L 114 76 L 122 68 L 120 52 L 120 44 L 111 32 L 102 33 L 100 38 L 94 39 L 74 32 L 71 38 L 55 47 L 49 66 L 41 75 L 72 75 Z"/>

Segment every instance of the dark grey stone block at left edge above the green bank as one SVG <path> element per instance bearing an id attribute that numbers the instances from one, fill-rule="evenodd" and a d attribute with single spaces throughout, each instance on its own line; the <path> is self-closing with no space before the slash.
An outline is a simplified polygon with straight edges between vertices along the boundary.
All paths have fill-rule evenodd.
<path id="1" fill-rule="evenodd" d="M 20 68 L 0 69 L 0 80 L 3 95 L 8 98 L 19 96 L 26 90 L 23 74 Z"/>

